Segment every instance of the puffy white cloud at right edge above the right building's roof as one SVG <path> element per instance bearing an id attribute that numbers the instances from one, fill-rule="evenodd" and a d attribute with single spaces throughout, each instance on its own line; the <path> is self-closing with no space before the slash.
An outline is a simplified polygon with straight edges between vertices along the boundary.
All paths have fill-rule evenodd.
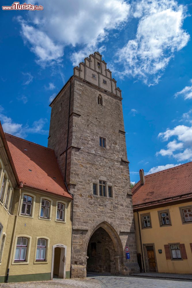
<path id="1" fill-rule="evenodd" d="M 176 139 L 170 141 L 166 145 L 167 149 L 161 149 L 156 155 L 172 156 L 177 161 L 192 160 L 192 126 L 178 125 L 159 133 L 158 137 L 163 141 L 168 141 L 171 137 Z M 176 150 L 180 150 L 179 153 L 175 153 Z"/>

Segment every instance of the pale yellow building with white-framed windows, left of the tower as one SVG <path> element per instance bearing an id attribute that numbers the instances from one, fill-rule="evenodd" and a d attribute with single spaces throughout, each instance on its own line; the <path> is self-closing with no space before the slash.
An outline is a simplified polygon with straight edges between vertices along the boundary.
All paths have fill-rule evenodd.
<path id="1" fill-rule="evenodd" d="M 69 278 L 72 195 L 55 153 L 0 136 L 0 282 Z"/>

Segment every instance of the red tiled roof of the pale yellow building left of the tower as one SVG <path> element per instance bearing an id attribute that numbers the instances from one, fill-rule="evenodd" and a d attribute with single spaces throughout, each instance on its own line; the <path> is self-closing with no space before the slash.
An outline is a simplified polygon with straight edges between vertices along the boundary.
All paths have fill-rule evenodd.
<path id="1" fill-rule="evenodd" d="M 64 183 L 55 152 L 5 133 L 13 163 L 24 186 L 72 198 Z"/>

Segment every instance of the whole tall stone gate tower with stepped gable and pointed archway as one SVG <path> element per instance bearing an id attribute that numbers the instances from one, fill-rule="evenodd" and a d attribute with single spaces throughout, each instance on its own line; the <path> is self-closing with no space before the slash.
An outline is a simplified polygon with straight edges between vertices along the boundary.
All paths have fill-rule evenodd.
<path id="1" fill-rule="evenodd" d="M 50 104 L 48 147 L 74 195 L 71 277 L 139 271 L 121 101 L 107 63 L 95 52 Z"/>

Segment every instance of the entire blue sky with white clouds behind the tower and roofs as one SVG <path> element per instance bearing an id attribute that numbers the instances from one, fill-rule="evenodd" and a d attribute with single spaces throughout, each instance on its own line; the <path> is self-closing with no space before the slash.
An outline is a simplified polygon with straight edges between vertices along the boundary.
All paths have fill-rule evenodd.
<path id="1" fill-rule="evenodd" d="M 28 1 L 1 10 L 0 120 L 47 145 L 50 100 L 99 51 L 122 90 L 131 181 L 192 160 L 191 1 Z M 1 0 L 1 5 L 12 5 Z M 23 2 L 20 2 L 20 4 Z"/>

